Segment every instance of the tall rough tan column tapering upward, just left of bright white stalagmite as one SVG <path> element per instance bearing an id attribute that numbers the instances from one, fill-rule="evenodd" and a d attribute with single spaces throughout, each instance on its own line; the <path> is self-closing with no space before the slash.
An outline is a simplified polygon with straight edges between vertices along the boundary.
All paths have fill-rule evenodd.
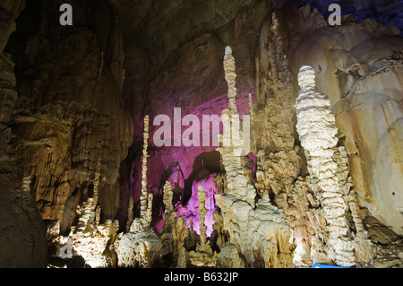
<path id="1" fill-rule="evenodd" d="M 289 120 L 293 117 L 293 76 L 277 14 L 273 13 L 263 27 L 259 45 L 262 60 L 256 66 L 257 104 L 252 117 L 257 165 L 253 183 L 258 194 L 272 198 L 293 230 L 294 263 L 307 265 L 313 258 L 312 237 L 322 234 L 322 215 L 304 176 L 304 158 Z"/>

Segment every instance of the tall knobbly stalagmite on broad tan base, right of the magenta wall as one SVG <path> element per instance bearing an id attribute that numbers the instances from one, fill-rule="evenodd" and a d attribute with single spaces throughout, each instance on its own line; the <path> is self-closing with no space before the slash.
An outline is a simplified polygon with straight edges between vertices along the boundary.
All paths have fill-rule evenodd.
<path id="1" fill-rule="evenodd" d="M 227 64 L 230 61 L 231 65 Z M 234 64 L 233 64 L 234 63 Z M 226 49 L 224 67 L 228 94 L 235 85 L 235 60 Z M 228 75 L 227 75 L 228 74 Z M 231 106 L 229 106 L 231 108 Z M 226 111 L 223 111 L 226 112 Z M 236 114 L 236 109 L 227 111 Z M 223 122 L 225 125 L 226 123 Z M 227 126 L 229 127 L 229 126 Z M 268 194 L 256 200 L 256 190 L 244 177 L 241 157 L 234 155 L 234 146 L 219 148 L 227 174 L 227 195 L 216 195 L 223 216 L 223 228 L 229 233 L 229 244 L 219 253 L 222 267 L 235 266 L 227 255 L 234 257 L 235 249 L 244 256 L 245 265 L 252 267 L 292 267 L 288 240 L 291 231 L 277 207 L 270 204 Z M 255 203 L 257 201 L 257 204 Z M 236 257 L 236 256 L 235 256 Z M 239 264 L 237 264 L 239 265 Z"/>

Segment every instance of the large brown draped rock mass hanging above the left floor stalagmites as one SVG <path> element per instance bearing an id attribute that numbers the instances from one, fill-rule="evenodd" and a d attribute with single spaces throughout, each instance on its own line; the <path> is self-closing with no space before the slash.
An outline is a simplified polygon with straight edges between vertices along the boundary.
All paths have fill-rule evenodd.
<path id="1" fill-rule="evenodd" d="M 35 3 L 27 5 L 23 13 Z M 77 208 L 90 197 L 99 206 L 100 224 L 115 219 L 120 161 L 133 134 L 121 97 L 124 54 L 116 15 L 106 2 L 90 11 L 73 4 L 77 14 L 110 20 L 94 30 L 87 22 L 48 30 L 58 10 L 50 3 L 37 8 L 43 15 L 34 22 L 42 25 L 21 14 L 21 31 L 9 44 L 19 59 L 13 148 L 23 173 L 34 180 L 42 219 L 60 221 L 60 235 L 67 236 L 80 219 Z M 23 29 L 30 37 L 24 38 Z"/>

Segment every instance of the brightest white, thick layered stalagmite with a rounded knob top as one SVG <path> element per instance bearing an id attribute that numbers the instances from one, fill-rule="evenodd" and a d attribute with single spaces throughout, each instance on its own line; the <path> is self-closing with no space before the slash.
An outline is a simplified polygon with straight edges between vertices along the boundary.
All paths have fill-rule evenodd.
<path id="1" fill-rule="evenodd" d="M 332 158 L 338 143 L 335 117 L 330 113 L 330 100 L 315 91 L 311 66 L 301 67 L 298 84 L 301 90 L 295 105 L 296 129 L 310 162 L 309 170 L 322 188 L 323 211 L 330 232 L 327 243 L 334 249 L 336 264 L 351 266 L 356 264 L 356 258 L 346 218 L 348 205 L 339 187 L 338 165 Z"/>

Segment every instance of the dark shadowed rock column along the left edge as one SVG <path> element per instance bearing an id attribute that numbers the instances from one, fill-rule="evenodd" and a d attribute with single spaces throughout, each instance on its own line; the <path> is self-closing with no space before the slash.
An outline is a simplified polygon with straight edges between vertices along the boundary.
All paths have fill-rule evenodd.
<path id="1" fill-rule="evenodd" d="M 35 205 L 34 178 L 13 154 L 13 108 L 18 99 L 12 57 L 4 53 L 25 1 L 0 2 L 0 267 L 45 267 L 45 225 Z"/>

